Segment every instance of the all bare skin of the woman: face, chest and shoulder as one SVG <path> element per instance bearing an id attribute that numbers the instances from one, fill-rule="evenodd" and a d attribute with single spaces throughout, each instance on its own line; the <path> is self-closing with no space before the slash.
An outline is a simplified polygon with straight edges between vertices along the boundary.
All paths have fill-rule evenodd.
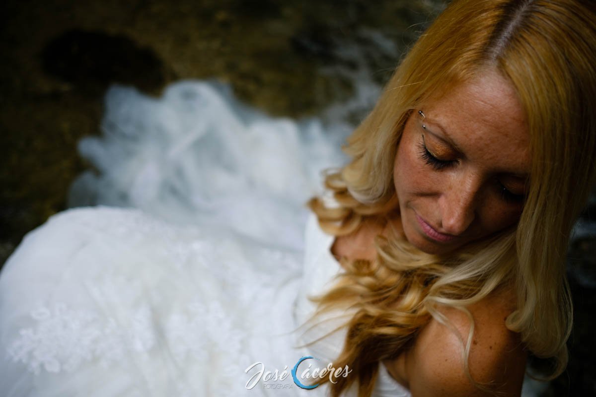
<path id="1" fill-rule="evenodd" d="M 530 152 L 526 118 L 510 83 L 487 73 L 455 86 L 422 110 L 424 119 L 412 112 L 399 142 L 393 179 L 401 217 L 390 221 L 392 226 L 421 251 L 443 254 L 515 224 L 523 204 L 504 200 L 501 189 L 523 193 Z M 455 164 L 434 169 L 421 158 L 421 142 L 433 155 Z M 429 238 L 417 215 L 437 232 L 456 237 L 448 242 Z M 387 225 L 365 224 L 338 237 L 332 251 L 350 260 L 373 260 L 374 236 L 386 230 Z M 494 390 L 507 396 L 519 396 L 526 363 L 520 336 L 505 327 L 515 304 L 514 290 L 504 288 L 468 307 L 475 324 L 470 373 L 479 382 L 494 382 Z M 455 309 L 440 311 L 465 340 L 468 318 Z M 461 349 L 458 337 L 433 319 L 410 348 L 384 364 L 414 397 L 492 395 L 470 383 Z"/>

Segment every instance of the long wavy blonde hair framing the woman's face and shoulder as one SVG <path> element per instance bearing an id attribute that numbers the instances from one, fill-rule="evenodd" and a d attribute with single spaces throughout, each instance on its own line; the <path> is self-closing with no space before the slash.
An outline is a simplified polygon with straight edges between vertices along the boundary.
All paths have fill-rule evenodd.
<path id="1" fill-rule="evenodd" d="M 322 229 L 347 235 L 367 218 L 390 217 L 393 162 L 412 110 L 486 70 L 511 82 L 526 112 L 529 193 L 517 227 L 452 255 L 424 254 L 393 235 L 377 237 L 377 260 L 344 261 L 340 282 L 317 299 L 319 312 L 356 310 L 334 361 L 356 376 L 330 384 L 333 396 L 356 379 L 358 395 L 369 396 L 380 360 L 398 357 L 430 318 L 445 322 L 436 305 L 465 311 L 504 285 L 517 293 L 507 328 L 536 357 L 555 358 L 551 377 L 563 371 L 572 326 L 567 243 L 596 182 L 595 21 L 587 1 L 454 1 L 399 65 L 347 141 L 352 161 L 325 180 L 339 208 L 309 203 Z M 472 334 L 462 341 L 468 377 Z"/>

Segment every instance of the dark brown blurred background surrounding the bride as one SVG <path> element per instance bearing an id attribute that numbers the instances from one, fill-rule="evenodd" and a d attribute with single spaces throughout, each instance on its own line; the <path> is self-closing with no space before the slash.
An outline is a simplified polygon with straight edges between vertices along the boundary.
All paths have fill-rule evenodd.
<path id="1" fill-rule="evenodd" d="M 5 0 L 0 264 L 25 233 L 68 207 L 69 186 L 92 167 L 77 143 L 100 133 L 110 85 L 159 97 L 178 80 L 215 79 L 272 117 L 328 116 L 336 107 L 353 126 L 446 3 Z M 592 201 L 569 252 L 576 310 L 569 368 L 542 396 L 596 395 L 595 220 Z"/>

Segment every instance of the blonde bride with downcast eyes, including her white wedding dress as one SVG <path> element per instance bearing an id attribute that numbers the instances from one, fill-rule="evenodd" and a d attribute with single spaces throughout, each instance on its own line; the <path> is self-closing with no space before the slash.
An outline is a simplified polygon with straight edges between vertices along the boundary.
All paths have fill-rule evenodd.
<path id="1" fill-rule="evenodd" d="M 309 165 L 246 149 L 303 137 L 283 122 L 279 135 L 255 122 L 235 137 L 179 120 L 201 157 L 169 148 L 175 170 L 124 168 L 105 183 L 209 168 L 202 192 L 169 185 L 199 208 L 193 224 L 77 208 L 8 260 L 3 395 L 513 396 L 529 354 L 554 358 L 557 376 L 566 247 L 596 182 L 595 21 L 579 0 L 452 2 L 309 201 L 303 246 L 293 185 L 308 190 L 308 171 L 293 168 Z M 205 115 L 217 102 L 201 85 L 167 95 Z M 245 129 L 246 117 L 221 122 Z M 122 120 L 125 135 L 139 128 Z M 138 139 L 112 149 L 126 157 Z"/>

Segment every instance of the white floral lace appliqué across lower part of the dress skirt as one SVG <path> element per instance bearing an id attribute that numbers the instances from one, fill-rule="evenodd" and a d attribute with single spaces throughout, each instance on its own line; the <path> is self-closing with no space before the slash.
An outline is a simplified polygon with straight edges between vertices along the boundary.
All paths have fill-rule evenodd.
<path id="1" fill-rule="evenodd" d="M 93 310 L 73 310 L 66 304 L 39 306 L 30 313 L 35 326 L 21 329 L 8 346 L 14 362 L 23 362 L 35 374 L 72 372 L 82 364 L 98 360 L 103 368 L 119 365 L 129 354 L 147 358 L 160 345 L 167 347 L 176 362 L 213 360 L 213 352 L 237 358 L 218 368 L 230 380 L 243 373 L 243 330 L 226 315 L 219 302 L 207 305 L 194 301 L 186 310 L 164 321 L 164 343 L 156 343 L 151 310 L 141 305 L 132 315 L 131 327 L 119 326 L 113 317 L 103 319 Z"/>

